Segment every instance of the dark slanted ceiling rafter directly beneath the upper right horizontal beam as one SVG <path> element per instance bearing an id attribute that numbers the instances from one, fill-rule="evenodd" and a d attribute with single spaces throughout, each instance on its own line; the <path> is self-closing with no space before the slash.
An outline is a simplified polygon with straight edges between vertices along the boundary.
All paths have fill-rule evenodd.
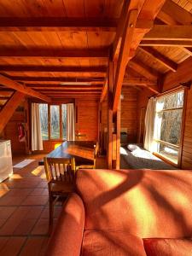
<path id="1" fill-rule="evenodd" d="M 162 55 L 160 52 L 158 52 L 156 49 L 153 49 L 151 47 L 140 47 L 145 54 L 153 56 L 157 61 L 159 61 L 162 65 L 165 67 L 168 67 L 173 72 L 176 72 L 177 70 L 177 63 L 167 58 L 165 55 Z"/>

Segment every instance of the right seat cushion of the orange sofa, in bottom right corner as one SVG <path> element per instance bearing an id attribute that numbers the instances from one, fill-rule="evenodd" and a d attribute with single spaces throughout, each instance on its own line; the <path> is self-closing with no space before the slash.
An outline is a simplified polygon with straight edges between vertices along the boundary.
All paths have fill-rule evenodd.
<path id="1" fill-rule="evenodd" d="M 187 239 L 143 239 L 148 256 L 191 256 L 192 241 Z"/>

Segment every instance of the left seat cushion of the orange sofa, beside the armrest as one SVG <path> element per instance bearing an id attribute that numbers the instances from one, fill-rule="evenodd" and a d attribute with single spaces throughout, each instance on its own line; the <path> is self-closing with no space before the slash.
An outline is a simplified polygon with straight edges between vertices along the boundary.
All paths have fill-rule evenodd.
<path id="1" fill-rule="evenodd" d="M 146 256 L 143 240 L 122 231 L 84 231 L 81 256 Z"/>

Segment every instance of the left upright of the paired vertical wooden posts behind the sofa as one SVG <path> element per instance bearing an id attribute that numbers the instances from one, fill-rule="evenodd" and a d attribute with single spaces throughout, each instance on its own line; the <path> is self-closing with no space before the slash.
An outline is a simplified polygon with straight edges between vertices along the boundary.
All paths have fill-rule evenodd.
<path id="1" fill-rule="evenodd" d="M 113 160 L 113 62 L 108 62 L 108 169 Z"/>

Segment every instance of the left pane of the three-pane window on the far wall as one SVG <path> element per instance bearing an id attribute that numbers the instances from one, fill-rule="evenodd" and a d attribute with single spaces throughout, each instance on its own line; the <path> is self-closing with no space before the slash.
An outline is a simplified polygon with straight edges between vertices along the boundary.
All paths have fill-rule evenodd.
<path id="1" fill-rule="evenodd" d="M 41 134 L 43 140 L 49 139 L 48 134 L 48 105 L 47 104 L 39 104 L 39 115 L 41 122 Z"/>

